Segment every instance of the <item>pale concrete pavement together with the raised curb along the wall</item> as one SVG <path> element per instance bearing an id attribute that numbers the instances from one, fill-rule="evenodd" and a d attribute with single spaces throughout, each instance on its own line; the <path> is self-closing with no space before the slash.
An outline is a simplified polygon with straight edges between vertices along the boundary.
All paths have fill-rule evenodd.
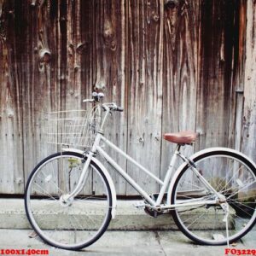
<path id="1" fill-rule="evenodd" d="M 163 230 L 166 221 L 173 225 L 170 216 L 151 218 L 132 204 L 134 201 L 119 201 L 112 228 L 92 246 L 81 252 L 71 252 L 50 247 L 38 236 L 30 238 L 32 230 L 26 219 L 23 200 L 1 199 L 0 254 L 3 249 L 48 249 L 49 255 L 225 255 L 226 246 L 196 245 L 178 230 Z M 231 248 L 256 249 L 256 226 Z"/>

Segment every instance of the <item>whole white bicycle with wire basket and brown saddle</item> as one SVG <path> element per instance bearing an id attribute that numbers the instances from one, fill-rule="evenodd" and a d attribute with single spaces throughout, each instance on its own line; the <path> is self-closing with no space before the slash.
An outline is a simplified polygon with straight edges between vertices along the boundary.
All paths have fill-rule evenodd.
<path id="1" fill-rule="evenodd" d="M 256 221 L 256 165 L 230 148 L 207 148 L 189 158 L 181 148 L 195 142 L 192 131 L 165 134 L 176 143 L 166 177 L 162 181 L 104 137 L 110 113 L 122 112 L 115 103 L 103 103 L 93 93 L 91 111 L 55 112 L 49 135 L 61 152 L 38 163 L 28 177 L 25 192 L 27 218 L 43 241 L 54 247 L 79 250 L 88 247 L 107 230 L 116 213 L 112 178 L 99 154 L 143 197 L 140 206 L 149 215 L 172 214 L 177 227 L 192 241 L 224 245 L 240 239 Z M 71 140 L 75 143 L 71 143 Z M 79 148 L 64 148 L 77 144 Z M 104 150 L 108 145 L 160 184 L 160 192 L 148 195 Z M 174 170 L 177 158 L 183 164 Z M 172 177 L 172 178 L 171 178 Z M 79 212 L 79 213 L 78 213 Z M 52 218 L 52 216 L 58 218 Z"/>

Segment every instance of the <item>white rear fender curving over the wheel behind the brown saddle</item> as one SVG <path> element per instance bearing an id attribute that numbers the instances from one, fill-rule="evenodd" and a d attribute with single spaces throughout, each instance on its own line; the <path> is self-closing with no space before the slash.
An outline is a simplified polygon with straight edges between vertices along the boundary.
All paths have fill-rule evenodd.
<path id="1" fill-rule="evenodd" d="M 235 149 L 231 149 L 231 148 L 220 148 L 220 147 L 218 147 L 218 148 L 206 148 L 206 149 L 203 149 L 201 151 L 196 152 L 195 154 L 192 154 L 189 157 L 189 159 L 190 160 L 195 160 L 195 158 L 201 156 L 202 154 L 210 153 L 210 152 L 213 152 L 213 151 L 226 151 L 226 152 L 230 152 L 230 153 L 234 153 L 234 154 L 239 154 L 239 155 L 241 155 L 241 157 L 245 158 L 248 162 L 250 162 L 250 164 L 252 164 L 252 166 L 254 166 L 254 168 L 256 170 L 256 165 L 252 160 L 250 160 L 245 154 L 242 154 L 241 152 L 239 152 Z M 167 204 L 171 203 L 171 196 L 172 196 L 172 190 L 173 190 L 174 183 L 175 183 L 178 175 L 180 174 L 180 172 L 183 171 L 183 168 L 185 166 L 187 166 L 187 163 L 183 163 L 181 166 L 179 166 L 177 168 L 177 171 L 174 173 L 174 175 L 172 177 L 172 180 L 171 180 L 168 192 L 167 192 L 167 201 L 166 201 Z"/>

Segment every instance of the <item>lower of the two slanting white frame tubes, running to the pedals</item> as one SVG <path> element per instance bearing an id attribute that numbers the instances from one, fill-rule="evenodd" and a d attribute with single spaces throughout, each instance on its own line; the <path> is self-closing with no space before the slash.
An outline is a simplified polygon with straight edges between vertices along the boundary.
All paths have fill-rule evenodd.
<path id="1" fill-rule="evenodd" d="M 131 186 L 137 190 L 137 192 L 143 196 L 143 198 L 148 201 L 148 203 L 152 206 L 156 206 L 156 203 L 154 200 L 152 200 L 148 193 L 145 192 L 135 181 L 128 175 L 101 147 L 96 148 L 99 154 L 101 154 L 108 162 L 116 169 L 116 171 L 119 172 L 119 174 L 125 178 L 125 180 L 131 184 Z"/>

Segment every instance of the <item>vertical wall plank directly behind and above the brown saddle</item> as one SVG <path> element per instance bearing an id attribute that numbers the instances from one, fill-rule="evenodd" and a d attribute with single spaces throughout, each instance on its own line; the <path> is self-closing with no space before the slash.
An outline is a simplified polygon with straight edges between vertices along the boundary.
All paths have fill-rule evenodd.
<path id="1" fill-rule="evenodd" d="M 198 1 L 165 6 L 163 133 L 195 131 L 199 13 Z M 166 174 L 173 146 L 163 141 L 161 177 Z M 193 152 L 191 147 L 184 150 L 186 154 Z"/>

